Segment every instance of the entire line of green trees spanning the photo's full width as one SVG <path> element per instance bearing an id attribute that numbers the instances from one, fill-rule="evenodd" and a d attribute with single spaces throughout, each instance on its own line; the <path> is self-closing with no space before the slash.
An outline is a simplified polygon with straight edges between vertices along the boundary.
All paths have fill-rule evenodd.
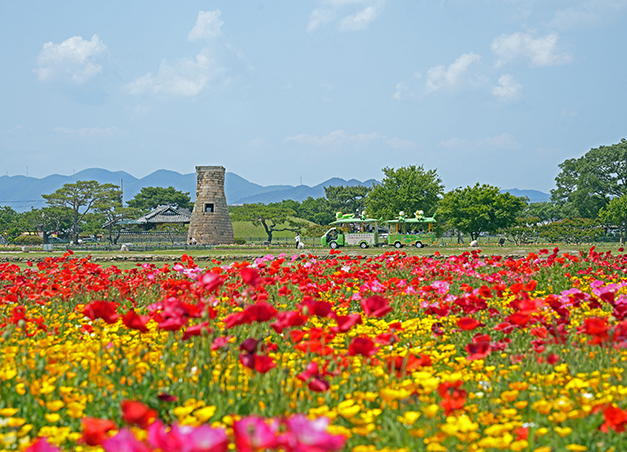
<path id="1" fill-rule="evenodd" d="M 613 228 L 620 231 L 622 242 L 627 236 L 627 141 L 591 149 L 565 160 L 559 168 L 556 188 L 547 202 L 530 203 L 480 183 L 446 192 L 436 170 L 410 165 L 384 168 L 381 183 L 372 187 L 329 186 L 324 197 L 244 204 L 229 210 L 234 221 L 263 227 L 268 241 L 275 232 L 285 230 L 322 235 L 322 226 L 333 222 L 338 212 L 384 221 L 401 211 L 420 210 L 437 216 L 437 233 L 448 231 L 460 240 L 464 235 L 474 240 L 489 233 L 517 244 L 538 239 L 581 242 Z M 24 233 L 38 233 L 47 243 L 53 233 L 62 232 L 76 243 L 81 233 L 101 233 L 108 225 L 104 232 L 116 243 L 123 219 L 136 218 L 159 205 L 193 207 L 189 193 L 173 187 L 142 188 L 125 206 L 119 187 L 96 181 L 65 184 L 43 197 L 46 207 L 41 209 L 18 213 L 0 207 L 0 235 L 7 242 L 15 242 Z"/>

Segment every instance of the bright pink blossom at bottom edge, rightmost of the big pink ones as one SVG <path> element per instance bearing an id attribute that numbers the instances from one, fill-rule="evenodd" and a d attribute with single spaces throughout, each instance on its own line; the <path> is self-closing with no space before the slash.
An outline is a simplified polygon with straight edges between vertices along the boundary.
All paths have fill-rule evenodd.
<path id="1" fill-rule="evenodd" d="M 287 451 L 323 452 L 340 450 L 346 443 L 343 435 L 331 435 L 327 432 L 329 419 L 320 417 L 310 421 L 303 414 L 297 414 L 287 421 L 288 432 L 281 435 L 281 444 Z"/>

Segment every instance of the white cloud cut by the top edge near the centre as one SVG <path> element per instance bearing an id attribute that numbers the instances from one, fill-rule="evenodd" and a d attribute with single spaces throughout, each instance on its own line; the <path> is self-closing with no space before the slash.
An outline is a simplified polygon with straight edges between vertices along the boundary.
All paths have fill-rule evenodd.
<path id="1" fill-rule="evenodd" d="M 309 16 L 307 31 L 337 22 L 341 32 L 365 30 L 381 14 L 385 0 L 320 0 Z"/>

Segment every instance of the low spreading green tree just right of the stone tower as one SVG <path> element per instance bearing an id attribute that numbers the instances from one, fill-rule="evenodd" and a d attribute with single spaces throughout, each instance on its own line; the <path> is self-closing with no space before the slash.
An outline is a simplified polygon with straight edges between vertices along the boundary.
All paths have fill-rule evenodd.
<path id="1" fill-rule="evenodd" d="M 298 232 L 305 226 L 304 222 L 294 218 L 296 216 L 294 210 L 282 206 L 281 203 L 232 206 L 229 207 L 229 214 L 233 221 L 250 221 L 255 226 L 263 226 L 268 235 L 268 242 L 272 242 L 274 232 Z"/>

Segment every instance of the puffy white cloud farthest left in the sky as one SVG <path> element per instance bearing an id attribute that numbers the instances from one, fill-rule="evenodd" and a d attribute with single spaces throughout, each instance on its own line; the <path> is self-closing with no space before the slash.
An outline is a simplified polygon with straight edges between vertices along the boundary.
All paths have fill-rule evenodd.
<path id="1" fill-rule="evenodd" d="M 77 85 L 102 73 L 99 64 L 107 56 L 107 46 L 98 35 L 90 41 L 73 36 L 61 44 L 47 42 L 37 57 L 35 73 L 42 82 L 68 81 Z"/>

